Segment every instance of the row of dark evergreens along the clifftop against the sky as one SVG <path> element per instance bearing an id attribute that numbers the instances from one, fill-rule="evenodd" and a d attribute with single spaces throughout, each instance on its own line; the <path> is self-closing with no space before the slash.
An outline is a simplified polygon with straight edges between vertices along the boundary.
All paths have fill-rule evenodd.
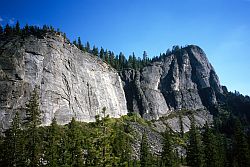
<path id="1" fill-rule="evenodd" d="M 26 24 L 23 28 L 20 27 L 20 23 L 17 21 L 16 25 L 14 27 L 11 27 L 10 25 L 6 25 L 5 28 L 0 26 L 0 35 L 3 34 L 5 36 L 13 36 L 13 35 L 20 35 L 22 37 L 34 35 L 38 38 L 42 38 L 47 33 L 56 34 L 63 36 L 65 41 L 69 41 L 66 37 L 65 33 L 60 32 L 59 29 L 55 30 L 52 26 L 44 25 L 42 28 L 38 26 L 29 26 Z M 111 67 L 117 69 L 117 70 L 123 70 L 123 69 L 134 69 L 134 70 L 140 70 L 143 67 L 147 66 L 148 64 L 164 59 L 166 56 L 169 56 L 173 52 L 177 52 L 180 50 L 179 46 L 174 46 L 172 51 L 168 50 L 163 54 L 160 54 L 160 56 L 155 56 L 152 59 L 148 57 L 148 54 L 146 51 L 143 51 L 143 54 L 139 57 L 136 57 L 135 53 L 133 52 L 132 55 L 126 58 L 126 56 L 120 52 L 119 55 L 116 55 L 114 52 L 110 50 L 105 50 L 101 47 L 100 51 L 99 48 L 95 45 L 93 48 L 91 48 L 90 43 L 87 41 L 85 45 L 82 44 L 81 38 L 78 37 L 77 40 L 73 40 L 72 44 L 74 44 L 76 47 L 78 47 L 80 50 L 84 52 L 88 52 L 93 54 L 94 56 L 99 57 L 101 60 L 105 61 L 107 64 L 109 64 Z M 142 58 L 141 58 L 142 57 Z"/>

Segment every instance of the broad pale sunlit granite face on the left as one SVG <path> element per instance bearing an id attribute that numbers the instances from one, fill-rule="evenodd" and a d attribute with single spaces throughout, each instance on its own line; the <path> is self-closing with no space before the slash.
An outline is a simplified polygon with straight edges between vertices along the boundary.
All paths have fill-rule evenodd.
<path id="1" fill-rule="evenodd" d="M 81 52 L 60 35 L 0 39 L 0 129 L 13 113 L 24 110 L 37 86 L 43 124 L 56 117 L 94 121 L 103 107 L 111 117 L 127 114 L 118 73 L 98 58 Z M 20 112 L 23 114 L 24 112 Z"/>

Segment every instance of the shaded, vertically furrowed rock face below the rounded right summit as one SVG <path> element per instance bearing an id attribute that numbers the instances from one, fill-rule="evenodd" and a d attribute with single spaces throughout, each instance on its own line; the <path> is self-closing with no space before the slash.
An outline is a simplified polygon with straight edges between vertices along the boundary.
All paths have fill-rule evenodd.
<path id="1" fill-rule="evenodd" d="M 217 105 L 222 87 L 203 50 L 190 45 L 141 71 L 120 73 L 129 111 L 158 119 L 173 111 L 209 110 Z"/>

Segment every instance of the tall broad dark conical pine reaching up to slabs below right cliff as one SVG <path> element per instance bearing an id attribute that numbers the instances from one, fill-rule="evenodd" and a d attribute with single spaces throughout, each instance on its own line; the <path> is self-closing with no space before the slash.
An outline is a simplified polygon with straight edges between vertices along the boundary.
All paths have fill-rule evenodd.
<path id="1" fill-rule="evenodd" d="M 195 126 L 193 116 L 190 121 L 189 142 L 187 145 L 187 164 L 192 167 L 202 167 L 203 153 L 200 134 Z"/>

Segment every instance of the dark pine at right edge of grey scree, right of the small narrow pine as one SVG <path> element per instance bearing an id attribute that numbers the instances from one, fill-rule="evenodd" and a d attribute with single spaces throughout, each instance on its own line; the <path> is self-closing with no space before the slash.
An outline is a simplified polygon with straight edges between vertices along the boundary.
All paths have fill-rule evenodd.
<path id="1" fill-rule="evenodd" d="M 173 153 L 172 139 L 169 130 L 166 130 L 163 134 L 163 148 L 161 153 L 161 166 L 173 167 L 175 166 L 175 157 Z"/>

